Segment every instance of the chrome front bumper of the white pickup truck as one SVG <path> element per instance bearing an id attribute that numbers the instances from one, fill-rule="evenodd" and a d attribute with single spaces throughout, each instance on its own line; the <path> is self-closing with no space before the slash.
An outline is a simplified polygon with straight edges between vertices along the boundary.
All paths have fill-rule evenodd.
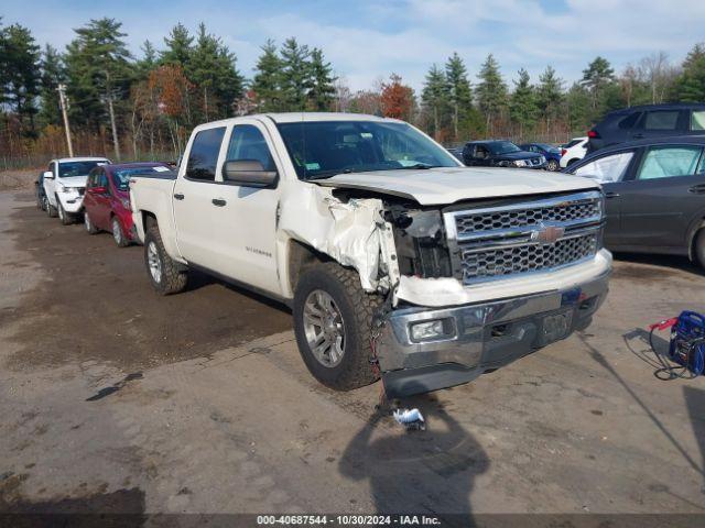
<path id="1" fill-rule="evenodd" d="M 605 300 L 609 272 L 575 287 L 449 308 L 404 308 L 389 314 L 377 354 L 389 397 L 467 383 L 549 344 L 547 316 L 568 314 L 560 339 L 586 328 Z M 412 323 L 443 319 L 448 336 L 414 342 Z"/>

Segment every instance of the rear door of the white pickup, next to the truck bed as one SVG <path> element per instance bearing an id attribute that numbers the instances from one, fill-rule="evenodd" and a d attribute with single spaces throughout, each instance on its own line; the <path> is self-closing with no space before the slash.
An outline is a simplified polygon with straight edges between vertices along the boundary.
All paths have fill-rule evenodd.
<path id="1" fill-rule="evenodd" d="M 176 242 L 181 255 L 189 263 L 218 270 L 213 200 L 218 197 L 216 167 L 220 158 L 226 127 L 196 132 L 188 150 L 186 164 L 178 172 L 172 199 Z"/>

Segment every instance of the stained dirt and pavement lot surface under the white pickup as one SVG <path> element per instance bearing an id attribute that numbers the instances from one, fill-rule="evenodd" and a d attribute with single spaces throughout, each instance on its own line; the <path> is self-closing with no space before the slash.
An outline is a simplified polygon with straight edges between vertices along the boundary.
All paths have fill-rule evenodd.
<path id="1" fill-rule="evenodd" d="M 590 328 L 405 402 L 406 433 L 379 384 L 310 376 L 285 308 L 159 297 L 141 248 L 31 200 L 0 193 L 0 512 L 705 512 L 705 377 L 659 381 L 643 331 L 705 311 L 687 261 L 619 260 Z"/>

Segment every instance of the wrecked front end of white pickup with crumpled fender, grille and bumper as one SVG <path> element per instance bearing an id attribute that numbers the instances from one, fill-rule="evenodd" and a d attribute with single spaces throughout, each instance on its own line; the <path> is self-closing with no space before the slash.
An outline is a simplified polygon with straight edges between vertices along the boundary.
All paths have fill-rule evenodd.
<path id="1" fill-rule="evenodd" d="M 467 383 L 589 324 L 611 268 L 599 189 L 416 198 L 326 180 L 278 224 L 282 244 L 355 268 L 388 300 L 370 330 L 388 396 Z"/>

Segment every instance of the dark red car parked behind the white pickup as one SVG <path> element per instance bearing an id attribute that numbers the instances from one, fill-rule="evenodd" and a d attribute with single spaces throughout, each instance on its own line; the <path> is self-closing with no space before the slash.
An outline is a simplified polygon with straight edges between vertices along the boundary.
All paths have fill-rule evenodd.
<path id="1" fill-rule="evenodd" d="M 84 196 L 84 221 L 86 231 L 112 233 L 120 248 L 137 240 L 130 208 L 130 176 L 138 173 L 163 172 L 165 163 L 121 163 L 100 165 L 88 175 Z"/>

